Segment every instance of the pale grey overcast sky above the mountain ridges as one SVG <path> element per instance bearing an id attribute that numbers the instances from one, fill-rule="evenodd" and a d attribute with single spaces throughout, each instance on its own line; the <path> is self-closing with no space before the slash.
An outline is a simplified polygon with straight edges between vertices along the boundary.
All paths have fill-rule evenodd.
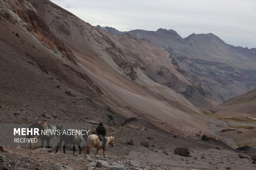
<path id="1" fill-rule="evenodd" d="M 213 33 L 234 46 L 256 47 L 256 0 L 51 0 L 93 26 L 173 29 L 181 37 Z"/>

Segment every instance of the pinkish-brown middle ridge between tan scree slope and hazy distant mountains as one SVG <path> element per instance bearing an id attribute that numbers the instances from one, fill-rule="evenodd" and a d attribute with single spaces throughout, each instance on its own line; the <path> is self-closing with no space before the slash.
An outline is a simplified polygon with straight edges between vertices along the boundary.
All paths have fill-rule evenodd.
<path id="1" fill-rule="evenodd" d="M 217 103 L 213 95 L 202 88 L 196 76 L 180 68 L 168 52 L 159 49 L 147 39 L 137 39 L 130 34 L 113 36 L 99 30 L 140 63 L 154 82 L 183 94 L 193 105 L 210 108 Z"/>

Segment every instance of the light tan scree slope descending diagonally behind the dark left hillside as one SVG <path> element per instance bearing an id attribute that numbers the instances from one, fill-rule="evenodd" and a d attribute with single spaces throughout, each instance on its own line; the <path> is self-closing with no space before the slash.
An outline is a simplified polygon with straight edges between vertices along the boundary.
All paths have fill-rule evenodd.
<path id="1" fill-rule="evenodd" d="M 109 37 L 50 1 L 30 2 L 50 30 L 72 49 L 78 69 L 102 90 L 104 103 L 116 112 L 125 117 L 150 119 L 182 133 L 190 133 L 185 130 L 189 124 L 195 126 L 195 131 L 199 126 L 192 122 L 178 123 L 183 118 L 207 124 L 200 110 L 181 94 L 150 79 L 145 68 Z M 161 124 L 162 121 L 166 123 Z"/>

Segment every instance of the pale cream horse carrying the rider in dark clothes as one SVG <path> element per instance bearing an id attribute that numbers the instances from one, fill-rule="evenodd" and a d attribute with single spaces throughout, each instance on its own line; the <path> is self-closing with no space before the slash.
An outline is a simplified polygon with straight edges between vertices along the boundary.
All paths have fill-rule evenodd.
<path id="1" fill-rule="evenodd" d="M 106 144 L 106 148 L 107 146 L 112 146 L 114 147 L 114 142 L 115 142 L 115 137 L 106 137 L 107 138 L 107 144 Z M 85 152 L 85 154 L 90 154 L 90 149 L 92 149 L 93 147 L 97 148 L 97 151 L 95 153 L 95 155 L 97 155 L 98 151 L 100 149 L 102 149 L 103 147 L 103 143 L 104 141 L 100 140 L 99 137 L 97 135 L 89 135 L 88 136 L 88 140 L 86 142 L 86 147 L 85 149 L 83 149 L 83 152 Z M 103 149 L 103 155 L 105 156 L 105 150 Z"/>

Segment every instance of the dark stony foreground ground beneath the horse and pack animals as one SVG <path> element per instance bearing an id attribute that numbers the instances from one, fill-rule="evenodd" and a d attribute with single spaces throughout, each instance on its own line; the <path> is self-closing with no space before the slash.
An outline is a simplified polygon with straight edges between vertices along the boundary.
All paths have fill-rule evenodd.
<path id="1" fill-rule="evenodd" d="M 256 166 L 251 164 L 252 156 L 235 151 L 224 143 L 189 140 L 179 136 L 174 138 L 172 135 L 156 133 L 150 129 L 134 130 L 129 126 L 131 125 L 120 127 L 111 133 L 111 135 L 116 137 L 116 145 L 114 148 L 110 147 L 108 149 L 107 155 L 111 155 L 111 157 L 107 158 L 90 155 L 91 160 L 84 154 L 73 156 L 73 151 L 67 151 L 67 154 L 59 151 L 55 154 L 51 149 L 50 151 L 52 152 L 48 152 L 46 148 L 43 148 L 43 150 L 30 150 L 24 148 L 17 149 L 15 147 L 7 147 L 7 153 L 2 153 L 1 156 L 5 165 L 12 168 L 15 166 L 24 167 L 25 169 L 51 169 L 56 164 L 60 164 L 67 165 L 73 169 L 83 170 L 95 167 L 94 164 L 89 163 L 97 163 L 98 160 L 107 161 L 110 165 L 114 165 L 114 162 L 116 162 L 128 169 L 190 170 L 191 168 L 195 168 L 197 170 L 224 170 L 231 168 L 242 170 L 245 168 L 247 170 L 254 170 Z M 152 137 L 153 139 L 149 140 L 147 137 Z M 126 144 L 130 139 L 134 140 L 134 145 Z M 149 148 L 141 146 L 141 141 L 148 142 Z M 155 147 L 152 147 L 152 145 Z M 191 157 L 175 155 L 173 150 L 175 147 L 180 146 L 189 148 Z M 165 151 L 166 153 L 164 153 Z M 92 153 L 94 152 L 95 150 L 92 150 Z M 102 155 L 101 151 L 99 155 Z M 241 156 L 244 158 L 240 158 Z M 128 160 L 138 161 L 139 165 L 137 167 L 130 166 L 127 164 Z M 107 168 L 110 169 L 111 167 L 107 166 L 94 169 Z"/>

